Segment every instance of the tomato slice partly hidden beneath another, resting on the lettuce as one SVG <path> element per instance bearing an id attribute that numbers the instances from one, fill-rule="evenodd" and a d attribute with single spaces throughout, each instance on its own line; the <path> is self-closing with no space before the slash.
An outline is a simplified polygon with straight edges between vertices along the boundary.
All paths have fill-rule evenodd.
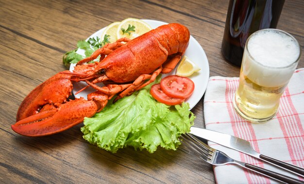
<path id="1" fill-rule="evenodd" d="M 151 87 L 150 94 L 155 98 L 160 103 L 169 105 L 169 106 L 174 106 L 181 104 L 186 100 L 186 98 L 172 98 L 169 97 L 167 94 L 165 94 L 161 89 L 160 89 L 160 84 L 154 84 Z"/>

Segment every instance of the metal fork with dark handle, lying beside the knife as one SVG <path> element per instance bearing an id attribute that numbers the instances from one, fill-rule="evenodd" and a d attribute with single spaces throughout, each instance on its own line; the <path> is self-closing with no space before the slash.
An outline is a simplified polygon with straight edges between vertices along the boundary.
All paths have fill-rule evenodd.
<path id="1" fill-rule="evenodd" d="M 304 184 L 304 182 L 297 180 L 295 178 L 291 178 L 289 176 L 285 176 L 283 174 L 273 172 L 267 169 L 263 169 L 251 164 L 247 164 L 244 162 L 240 162 L 237 160 L 234 160 L 227 156 L 225 153 L 218 151 L 216 149 L 211 148 L 207 144 L 203 143 L 198 138 L 192 136 L 191 134 L 184 134 L 181 135 L 183 138 L 183 143 L 185 146 L 189 147 L 191 150 L 195 151 L 200 158 L 202 158 L 204 161 L 208 162 L 209 164 L 215 165 L 215 166 L 221 166 L 226 164 L 235 164 L 238 166 L 241 166 L 246 169 L 250 169 L 254 172 L 257 172 L 259 174 L 262 174 L 264 176 L 270 177 L 274 180 L 277 180 L 279 182 L 287 183 L 287 184 Z"/>

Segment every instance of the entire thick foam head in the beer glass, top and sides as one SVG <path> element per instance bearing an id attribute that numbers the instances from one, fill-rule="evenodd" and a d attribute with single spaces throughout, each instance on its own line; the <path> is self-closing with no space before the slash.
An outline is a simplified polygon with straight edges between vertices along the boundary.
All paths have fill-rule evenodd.
<path id="1" fill-rule="evenodd" d="M 286 85 L 299 55 L 298 42 L 288 34 L 271 29 L 258 31 L 250 37 L 244 51 L 243 73 L 264 87 Z"/>

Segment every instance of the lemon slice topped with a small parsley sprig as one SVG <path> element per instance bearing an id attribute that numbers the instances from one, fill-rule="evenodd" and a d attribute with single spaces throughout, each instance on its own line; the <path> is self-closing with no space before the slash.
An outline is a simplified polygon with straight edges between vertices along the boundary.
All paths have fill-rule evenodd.
<path id="1" fill-rule="evenodd" d="M 125 32 L 123 32 L 121 29 L 125 30 Z M 152 30 L 152 28 L 146 22 L 139 20 L 137 18 L 127 18 L 121 21 L 118 26 L 117 39 L 123 37 L 133 39 L 150 30 Z"/>

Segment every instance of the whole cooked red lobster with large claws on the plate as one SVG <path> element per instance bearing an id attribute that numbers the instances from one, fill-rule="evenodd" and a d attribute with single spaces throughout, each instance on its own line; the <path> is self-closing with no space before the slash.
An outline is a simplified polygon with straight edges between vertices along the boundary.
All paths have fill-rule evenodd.
<path id="1" fill-rule="evenodd" d="M 122 38 L 105 45 L 79 61 L 73 72 L 59 72 L 30 92 L 18 109 L 17 123 L 12 129 L 20 135 L 36 137 L 82 123 L 84 117 L 101 111 L 113 96 L 117 95 L 116 101 L 131 95 L 160 73 L 169 73 L 185 53 L 189 38 L 185 26 L 173 23 L 131 41 Z M 100 62 L 87 64 L 98 56 Z M 88 94 L 87 100 L 68 99 L 75 81 L 85 81 L 96 92 Z M 101 82 L 105 86 L 96 85 Z"/>

